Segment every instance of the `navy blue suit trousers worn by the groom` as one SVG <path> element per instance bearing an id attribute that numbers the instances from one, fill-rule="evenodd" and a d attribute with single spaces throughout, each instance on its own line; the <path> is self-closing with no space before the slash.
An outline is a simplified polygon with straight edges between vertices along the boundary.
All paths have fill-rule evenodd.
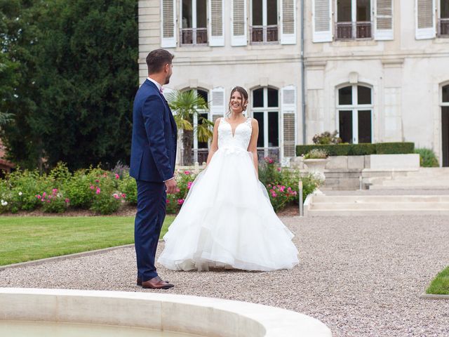
<path id="1" fill-rule="evenodd" d="M 166 217 L 166 185 L 136 180 L 138 209 L 134 223 L 138 277 L 143 282 L 158 276 L 154 259 L 163 220 Z"/>

